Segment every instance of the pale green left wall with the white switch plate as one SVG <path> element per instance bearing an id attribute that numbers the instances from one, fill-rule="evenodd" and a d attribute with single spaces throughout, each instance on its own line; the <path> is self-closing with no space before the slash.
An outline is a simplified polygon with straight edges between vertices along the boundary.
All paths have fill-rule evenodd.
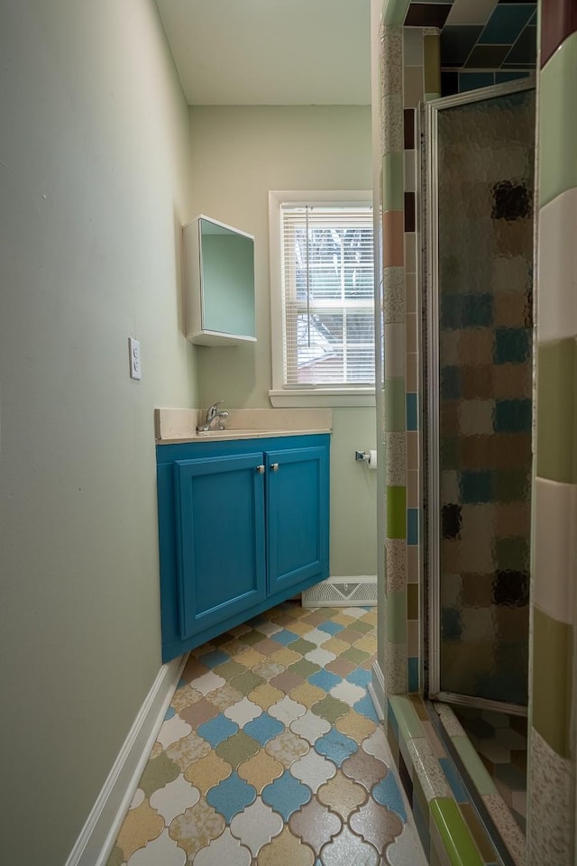
<path id="1" fill-rule="evenodd" d="M 152 0 L 1 17 L 0 860 L 62 866 L 160 669 L 153 408 L 197 403 L 188 108 Z"/>

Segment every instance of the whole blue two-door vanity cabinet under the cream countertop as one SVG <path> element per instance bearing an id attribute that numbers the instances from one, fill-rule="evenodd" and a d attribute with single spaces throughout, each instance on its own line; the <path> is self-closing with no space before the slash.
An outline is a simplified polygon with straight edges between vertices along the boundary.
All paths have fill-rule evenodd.
<path id="1" fill-rule="evenodd" d="M 157 446 L 164 661 L 328 576 L 329 443 Z"/>

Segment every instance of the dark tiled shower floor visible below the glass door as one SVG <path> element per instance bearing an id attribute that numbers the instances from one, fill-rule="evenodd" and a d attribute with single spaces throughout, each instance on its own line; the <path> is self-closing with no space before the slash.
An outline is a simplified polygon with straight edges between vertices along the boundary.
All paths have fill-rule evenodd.
<path id="1" fill-rule="evenodd" d="M 453 707 L 473 746 L 525 833 L 527 821 L 527 719 Z"/>

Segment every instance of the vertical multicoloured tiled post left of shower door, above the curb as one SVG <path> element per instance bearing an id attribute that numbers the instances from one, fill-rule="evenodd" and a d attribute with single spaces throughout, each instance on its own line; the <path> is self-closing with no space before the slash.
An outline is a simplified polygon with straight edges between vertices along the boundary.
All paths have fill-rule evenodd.
<path id="1" fill-rule="evenodd" d="M 389 695 L 419 687 L 419 314 L 416 112 L 440 96 L 439 32 L 382 32 L 386 639 Z"/>

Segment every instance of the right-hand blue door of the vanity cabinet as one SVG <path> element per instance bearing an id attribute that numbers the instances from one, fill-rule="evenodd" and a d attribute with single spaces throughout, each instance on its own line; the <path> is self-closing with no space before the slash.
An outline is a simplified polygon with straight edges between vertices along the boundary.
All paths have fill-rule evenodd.
<path id="1" fill-rule="evenodd" d="M 269 594 L 328 573 L 328 449 L 267 451 Z"/>

